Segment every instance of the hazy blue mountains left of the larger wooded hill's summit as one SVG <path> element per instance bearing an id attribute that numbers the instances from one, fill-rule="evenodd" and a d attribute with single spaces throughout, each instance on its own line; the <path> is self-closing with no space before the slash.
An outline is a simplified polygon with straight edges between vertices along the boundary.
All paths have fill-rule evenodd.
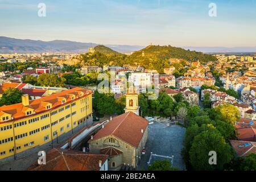
<path id="1" fill-rule="evenodd" d="M 67 40 L 53 40 L 44 42 L 41 40 L 14 39 L 0 36 L 0 53 L 85 53 L 89 47 L 96 47 L 100 44 L 81 43 Z M 114 51 L 122 53 L 130 53 L 144 48 L 143 46 L 127 46 L 127 45 L 105 45 Z"/>

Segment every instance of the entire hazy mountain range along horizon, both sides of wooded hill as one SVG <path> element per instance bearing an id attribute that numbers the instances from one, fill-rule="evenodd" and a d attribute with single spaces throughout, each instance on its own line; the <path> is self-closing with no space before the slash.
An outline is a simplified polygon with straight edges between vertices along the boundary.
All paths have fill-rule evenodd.
<path id="1" fill-rule="evenodd" d="M 85 53 L 89 47 L 96 47 L 100 44 L 81 43 L 67 40 L 53 40 L 44 42 L 41 40 L 14 39 L 0 36 L 0 53 Z M 112 45 L 104 44 L 104 46 L 121 53 L 130 53 L 143 49 L 143 46 L 129 45 Z M 199 51 L 204 53 L 251 53 L 256 52 L 256 47 L 182 47 L 191 51 Z"/>

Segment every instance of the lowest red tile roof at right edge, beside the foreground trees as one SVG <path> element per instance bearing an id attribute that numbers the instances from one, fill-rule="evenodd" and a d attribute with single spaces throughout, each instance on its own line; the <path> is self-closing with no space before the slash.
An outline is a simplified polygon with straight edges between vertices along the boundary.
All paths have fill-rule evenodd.
<path id="1" fill-rule="evenodd" d="M 251 153 L 256 153 L 256 142 L 240 140 L 229 140 L 229 142 L 239 156 L 247 156 Z"/>

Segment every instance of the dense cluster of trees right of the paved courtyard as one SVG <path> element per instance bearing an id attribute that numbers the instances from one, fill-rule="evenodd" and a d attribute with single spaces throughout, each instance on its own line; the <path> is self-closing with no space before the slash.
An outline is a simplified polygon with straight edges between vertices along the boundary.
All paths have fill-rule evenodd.
<path id="1" fill-rule="evenodd" d="M 195 111 L 188 119 L 182 155 L 189 170 L 255 169 L 255 155 L 236 158 L 229 145 L 235 138 L 234 122 L 239 119 L 236 107 L 224 104 L 216 109 Z M 192 116 L 192 115 L 191 115 Z M 209 164 L 209 152 L 217 153 L 217 164 Z"/>

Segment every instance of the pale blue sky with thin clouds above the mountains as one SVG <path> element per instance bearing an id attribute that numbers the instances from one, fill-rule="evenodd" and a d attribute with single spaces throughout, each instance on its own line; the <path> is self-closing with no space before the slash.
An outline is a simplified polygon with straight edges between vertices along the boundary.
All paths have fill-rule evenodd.
<path id="1" fill-rule="evenodd" d="M 46 16 L 38 16 L 38 5 Z M 215 3 L 217 16 L 209 16 Z M 177 47 L 255 47 L 256 0 L 0 0 L 0 36 Z"/>

